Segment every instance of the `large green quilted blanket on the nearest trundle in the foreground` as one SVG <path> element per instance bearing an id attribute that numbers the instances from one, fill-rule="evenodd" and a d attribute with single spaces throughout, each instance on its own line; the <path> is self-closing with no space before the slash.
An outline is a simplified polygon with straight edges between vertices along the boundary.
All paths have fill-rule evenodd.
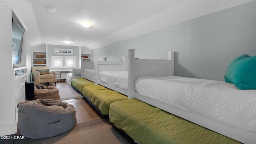
<path id="1" fill-rule="evenodd" d="M 238 144 L 239 142 L 136 99 L 110 104 L 110 122 L 141 144 Z"/>

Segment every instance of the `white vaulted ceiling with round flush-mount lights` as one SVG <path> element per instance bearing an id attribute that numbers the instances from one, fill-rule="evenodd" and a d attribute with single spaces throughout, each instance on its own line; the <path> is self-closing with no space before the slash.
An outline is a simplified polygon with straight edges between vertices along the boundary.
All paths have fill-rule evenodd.
<path id="1" fill-rule="evenodd" d="M 253 0 L 0 0 L 36 44 L 99 48 Z M 48 9 L 55 12 L 48 12 Z M 94 25 L 84 28 L 83 20 Z M 63 41 L 71 41 L 64 44 Z"/>

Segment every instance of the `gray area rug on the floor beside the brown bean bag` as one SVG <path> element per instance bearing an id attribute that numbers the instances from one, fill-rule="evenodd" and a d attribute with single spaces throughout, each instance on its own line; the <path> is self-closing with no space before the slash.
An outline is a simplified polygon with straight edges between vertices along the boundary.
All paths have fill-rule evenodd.
<path id="1" fill-rule="evenodd" d="M 59 90 L 59 94 L 60 94 L 60 100 L 70 100 L 70 99 L 83 98 L 84 97 L 84 96 L 82 96 L 82 94 L 77 92 L 71 86 L 58 88 L 58 90 Z"/>

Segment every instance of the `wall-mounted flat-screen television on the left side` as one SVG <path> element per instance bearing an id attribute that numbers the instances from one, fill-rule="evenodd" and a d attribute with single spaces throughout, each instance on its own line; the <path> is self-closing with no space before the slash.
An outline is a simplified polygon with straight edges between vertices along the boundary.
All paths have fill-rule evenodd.
<path id="1" fill-rule="evenodd" d="M 12 18 L 12 64 L 20 64 L 24 31 L 16 18 Z"/>

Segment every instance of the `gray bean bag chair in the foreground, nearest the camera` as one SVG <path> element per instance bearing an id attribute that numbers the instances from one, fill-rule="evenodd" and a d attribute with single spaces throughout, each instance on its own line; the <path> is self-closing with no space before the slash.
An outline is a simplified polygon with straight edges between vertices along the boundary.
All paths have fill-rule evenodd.
<path id="1" fill-rule="evenodd" d="M 48 138 L 62 134 L 76 125 L 72 104 L 52 99 L 24 101 L 18 104 L 20 134 L 26 138 Z"/>

